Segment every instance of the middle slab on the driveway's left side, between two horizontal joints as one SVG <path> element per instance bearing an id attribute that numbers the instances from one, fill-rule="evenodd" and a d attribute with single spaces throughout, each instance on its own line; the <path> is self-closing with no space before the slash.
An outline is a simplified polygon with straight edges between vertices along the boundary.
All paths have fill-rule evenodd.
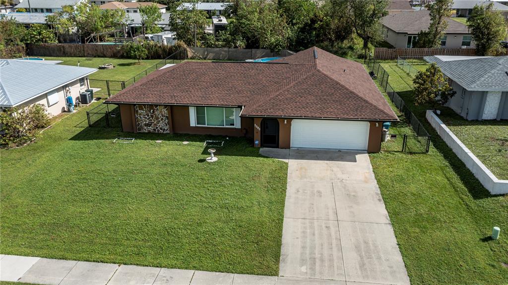
<path id="1" fill-rule="evenodd" d="M 284 218 L 337 220 L 332 183 L 289 181 Z"/>

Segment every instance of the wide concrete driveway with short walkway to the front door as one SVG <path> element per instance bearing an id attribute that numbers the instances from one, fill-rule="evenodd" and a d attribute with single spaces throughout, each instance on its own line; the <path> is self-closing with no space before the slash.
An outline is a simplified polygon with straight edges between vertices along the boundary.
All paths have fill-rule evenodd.
<path id="1" fill-rule="evenodd" d="M 268 152 L 289 162 L 280 276 L 409 284 L 365 152 Z"/>

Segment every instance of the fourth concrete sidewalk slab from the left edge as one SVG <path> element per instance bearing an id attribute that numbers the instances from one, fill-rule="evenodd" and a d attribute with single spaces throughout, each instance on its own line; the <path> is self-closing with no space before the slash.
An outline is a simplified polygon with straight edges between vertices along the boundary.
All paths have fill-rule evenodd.
<path id="1" fill-rule="evenodd" d="M 152 285 L 161 268 L 120 265 L 108 285 Z"/>

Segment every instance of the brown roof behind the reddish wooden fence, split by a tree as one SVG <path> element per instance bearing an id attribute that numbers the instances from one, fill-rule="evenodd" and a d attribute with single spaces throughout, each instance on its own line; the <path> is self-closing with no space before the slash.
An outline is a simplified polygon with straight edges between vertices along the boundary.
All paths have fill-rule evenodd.
<path id="1" fill-rule="evenodd" d="M 409 34 L 417 34 L 421 30 L 427 30 L 430 25 L 430 16 L 428 10 L 421 11 L 401 11 L 396 14 L 390 14 L 381 19 L 383 25 L 396 31 Z M 445 33 L 469 33 L 466 25 L 448 18 L 448 28 Z"/>

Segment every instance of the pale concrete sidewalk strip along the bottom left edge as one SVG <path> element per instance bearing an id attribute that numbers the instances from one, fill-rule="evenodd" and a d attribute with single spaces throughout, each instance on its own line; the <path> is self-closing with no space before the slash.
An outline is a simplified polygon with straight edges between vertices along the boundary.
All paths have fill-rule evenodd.
<path id="1" fill-rule="evenodd" d="M 0 255 L 0 280 L 48 285 L 345 285 L 345 282 Z"/>

